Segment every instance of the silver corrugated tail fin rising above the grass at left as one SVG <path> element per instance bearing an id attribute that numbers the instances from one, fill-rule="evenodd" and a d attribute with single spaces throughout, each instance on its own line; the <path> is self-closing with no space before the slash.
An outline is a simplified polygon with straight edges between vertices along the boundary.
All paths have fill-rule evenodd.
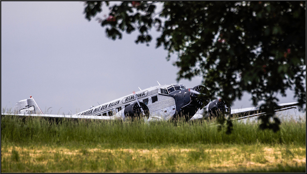
<path id="1" fill-rule="evenodd" d="M 14 106 L 16 114 L 43 114 L 32 96 L 30 98 L 18 101 Z"/>

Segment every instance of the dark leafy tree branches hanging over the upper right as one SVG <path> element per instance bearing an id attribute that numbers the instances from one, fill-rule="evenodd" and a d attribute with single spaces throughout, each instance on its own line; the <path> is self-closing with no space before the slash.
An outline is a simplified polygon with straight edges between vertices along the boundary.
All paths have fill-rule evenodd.
<path id="1" fill-rule="evenodd" d="M 86 18 L 95 17 L 102 5 L 86 2 Z M 168 60 L 178 55 L 177 80 L 202 76 L 211 97 L 232 103 L 247 91 L 253 105 L 266 101 L 262 107 L 271 114 L 261 117 L 263 129 L 280 123 L 269 122 L 276 93 L 286 96 L 291 89 L 300 106 L 306 103 L 305 2 L 125 1 L 97 19 L 113 40 L 138 30 L 135 42 L 148 45 L 151 29 L 157 30 L 156 47 L 168 50 Z"/>

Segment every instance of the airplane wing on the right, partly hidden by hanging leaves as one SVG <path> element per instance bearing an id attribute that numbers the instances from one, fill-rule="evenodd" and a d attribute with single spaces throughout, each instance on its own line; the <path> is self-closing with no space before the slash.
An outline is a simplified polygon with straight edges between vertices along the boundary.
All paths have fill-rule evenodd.
<path id="1" fill-rule="evenodd" d="M 282 103 L 282 104 L 277 104 L 278 106 L 274 108 L 275 112 L 278 111 L 283 111 L 287 109 L 292 109 L 296 108 L 294 106 L 299 105 L 298 102 L 291 102 L 291 103 Z M 260 107 L 251 107 L 251 108 L 242 108 L 242 109 L 231 109 L 231 117 L 238 117 L 235 118 L 238 120 L 244 119 L 244 118 L 249 118 L 249 117 L 255 117 L 255 116 L 260 116 L 266 114 L 264 111 L 260 109 Z"/>

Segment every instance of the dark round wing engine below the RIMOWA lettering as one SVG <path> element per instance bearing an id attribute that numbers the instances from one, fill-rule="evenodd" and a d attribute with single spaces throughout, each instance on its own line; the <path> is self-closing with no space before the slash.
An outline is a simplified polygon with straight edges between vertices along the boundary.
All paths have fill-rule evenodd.
<path id="1" fill-rule="evenodd" d="M 127 106 L 124 110 L 125 117 L 149 117 L 149 109 L 147 105 L 143 102 L 134 102 L 133 104 Z"/>

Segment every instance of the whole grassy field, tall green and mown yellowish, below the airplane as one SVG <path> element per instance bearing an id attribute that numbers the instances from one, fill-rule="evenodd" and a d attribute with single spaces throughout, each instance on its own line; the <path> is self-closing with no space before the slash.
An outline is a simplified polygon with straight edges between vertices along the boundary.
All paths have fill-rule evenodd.
<path id="1" fill-rule="evenodd" d="M 1 118 L 1 172 L 306 172 L 306 121 L 280 131 L 256 122 Z M 211 125 L 210 125 L 211 124 Z"/>

